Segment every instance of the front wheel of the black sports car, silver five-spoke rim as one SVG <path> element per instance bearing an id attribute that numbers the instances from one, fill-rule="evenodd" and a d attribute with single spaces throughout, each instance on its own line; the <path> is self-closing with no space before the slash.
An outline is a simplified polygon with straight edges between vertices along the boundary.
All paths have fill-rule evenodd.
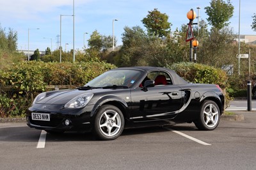
<path id="1" fill-rule="evenodd" d="M 113 140 L 124 130 L 124 115 L 114 105 L 103 105 L 95 115 L 93 133 L 100 140 Z"/>

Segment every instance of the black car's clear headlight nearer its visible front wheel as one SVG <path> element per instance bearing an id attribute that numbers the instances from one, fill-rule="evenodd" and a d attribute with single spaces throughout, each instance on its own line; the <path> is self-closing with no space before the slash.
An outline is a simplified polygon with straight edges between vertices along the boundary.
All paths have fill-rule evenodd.
<path id="1" fill-rule="evenodd" d="M 64 107 L 66 108 L 81 108 L 84 107 L 93 97 L 93 93 L 86 93 L 72 98 Z"/>

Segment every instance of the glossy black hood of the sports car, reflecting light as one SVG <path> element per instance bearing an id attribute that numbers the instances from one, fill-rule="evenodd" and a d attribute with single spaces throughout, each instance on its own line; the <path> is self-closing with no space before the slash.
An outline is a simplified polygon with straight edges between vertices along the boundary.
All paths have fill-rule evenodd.
<path id="1" fill-rule="evenodd" d="M 86 94 L 86 93 L 111 93 L 113 91 L 120 91 L 121 89 L 87 89 L 87 90 L 79 90 L 79 89 L 71 89 L 65 91 L 51 91 L 49 93 L 46 92 L 46 97 L 42 100 L 36 102 L 36 104 L 67 104 L 72 98 L 77 97 L 78 95 Z"/>

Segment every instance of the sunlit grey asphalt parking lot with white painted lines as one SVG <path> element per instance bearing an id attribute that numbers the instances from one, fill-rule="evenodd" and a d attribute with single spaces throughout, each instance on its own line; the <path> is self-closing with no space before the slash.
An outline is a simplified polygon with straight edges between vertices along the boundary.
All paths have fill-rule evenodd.
<path id="1" fill-rule="evenodd" d="M 184 123 L 125 130 L 115 141 L 0 123 L 0 169 L 255 169 L 256 112 L 241 113 L 213 131 Z"/>

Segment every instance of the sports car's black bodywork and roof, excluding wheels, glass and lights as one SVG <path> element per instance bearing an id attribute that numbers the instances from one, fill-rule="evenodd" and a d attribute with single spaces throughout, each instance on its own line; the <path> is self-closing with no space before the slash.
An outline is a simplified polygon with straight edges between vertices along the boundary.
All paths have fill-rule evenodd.
<path id="1" fill-rule="evenodd" d="M 190 84 L 167 68 L 145 66 L 115 70 L 138 70 L 140 75 L 136 81 L 131 81 L 129 88 L 98 87 L 47 92 L 45 98 L 29 107 L 28 126 L 42 130 L 91 130 L 95 114 L 107 104 L 115 105 L 122 111 L 125 128 L 195 121 L 205 100 L 216 102 L 220 114 L 223 113 L 225 98 L 215 84 Z M 170 77 L 169 84 L 141 87 L 141 82 L 152 72 Z M 85 107 L 64 107 L 72 98 L 86 93 L 93 93 L 93 97 Z M 32 120 L 31 112 L 49 113 L 51 121 Z M 68 126 L 65 125 L 67 119 L 71 122 Z"/>

